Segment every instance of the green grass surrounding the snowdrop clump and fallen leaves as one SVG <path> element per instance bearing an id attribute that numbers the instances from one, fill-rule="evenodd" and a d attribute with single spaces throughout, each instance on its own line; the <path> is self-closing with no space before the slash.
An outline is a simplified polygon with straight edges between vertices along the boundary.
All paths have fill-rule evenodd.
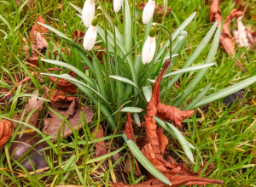
<path id="1" fill-rule="evenodd" d="M 233 1 L 224 1 L 220 4 L 222 9 L 222 16 L 225 18 L 229 13 L 231 8 L 236 8 Z M 67 37 L 73 38 L 73 31 L 85 31 L 85 28 L 82 24 L 82 21 L 76 15 L 74 8 L 70 6 L 69 3 L 82 8 L 83 1 L 36 1 L 35 8 L 28 8 L 26 6 L 17 6 L 15 1 L 1 1 L 0 3 L 0 96 L 1 98 L 11 89 L 15 87 L 15 84 L 20 82 L 26 77 L 32 77 L 31 73 L 34 71 L 45 72 L 49 67 L 59 67 L 51 65 L 48 63 L 40 63 L 40 67 L 31 67 L 26 65 L 27 59 L 24 59 L 24 52 L 20 50 L 24 42 L 22 38 L 28 38 L 31 27 L 34 25 L 38 15 L 43 15 L 44 20 L 48 26 L 52 26 L 58 31 L 64 33 Z M 140 2 L 137 2 L 140 3 Z M 25 4 L 24 4 L 25 5 Z M 111 3 L 105 3 L 105 8 L 111 8 Z M 188 31 L 188 37 L 185 41 L 185 47 L 183 48 L 177 63 L 172 67 L 173 70 L 180 69 L 183 64 L 189 59 L 191 54 L 195 51 L 195 48 L 201 42 L 202 38 L 206 36 L 207 31 L 212 27 L 212 23 L 209 23 L 208 14 L 209 14 L 209 4 L 205 4 L 204 1 L 171 1 L 170 5 L 172 7 L 172 13 L 166 17 L 164 25 L 169 28 L 172 33 L 180 26 L 184 20 L 186 20 L 190 14 L 197 12 L 195 19 L 191 21 L 189 26 L 186 27 L 185 31 Z M 255 6 L 253 1 L 248 2 L 248 6 Z M 132 13 L 132 12 L 131 12 Z M 119 13 L 121 14 L 121 13 Z M 119 28 L 119 31 L 123 31 L 122 16 L 119 14 L 112 14 L 112 17 L 116 17 L 114 24 Z M 255 14 L 255 9 L 250 12 L 250 14 L 245 15 L 245 24 L 253 25 L 253 14 Z M 126 15 L 125 15 L 126 16 Z M 139 14 L 141 16 L 141 14 Z M 158 18 L 155 17 L 154 21 Z M 235 21 L 232 22 L 235 28 Z M 100 23 L 103 25 L 104 23 Z M 126 29 L 130 23 L 126 23 Z M 137 32 L 133 31 L 132 38 L 130 42 L 132 46 L 136 46 L 139 40 L 144 41 L 144 29 L 142 22 L 140 21 L 137 24 Z M 110 31 L 111 27 L 108 27 Z M 53 34 L 51 32 L 51 34 Z M 121 33 L 125 36 L 129 36 L 129 33 Z M 137 37 L 137 41 L 134 40 L 134 37 Z M 60 37 L 55 37 L 54 35 L 47 36 L 49 40 L 49 48 L 47 48 L 44 54 L 40 54 L 44 59 L 55 59 L 60 61 L 66 61 L 69 65 L 76 66 L 80 71 L 86 65 L 86 60 L 81 60 L 79 57 L 79 48 L 76 48 L 74 45 L 69 45 L 68 42 L 65 42 Z M 125 38 L 128 42 L 129 39 Z M 168 38 L 166 35 L 159 31 L 158 41 L 161 44 L 164 44 Z M 28 41 L 29 42 L 29 41 Z M 102 41 L 99 40 L 99 43 Z M 163 43 L 162 43 L 163 42 Z M 53 46 L 58 43 L 60 46 L 57 48 L 71 48 L 73 55 L 63 55 L 59 53 L 54 57 L 52 51 Z M 211 48 L 212 40 L 207 46 L 202 50 L 201 54 L 195 59 L 193 65 L 202 64 L 206 58 L 207 54 Z M 143 42 L 139 44 L 137 54 L 140 53 Z M 130 48 L 131 45 L 126 44 L 125 48 Z M 114 48 L 113 48 L 114 50 Z M 237 49 L 238 51 L 239 49 Z M 129 52 L 130 50 L 127 50 Z M 201 79 L 199 84 L 195 87 L 193 93 L 189 94 L 188 97 L 183 99 L 182 103 L 176 105 L 181 105 L 182 107 L 186 104 L 189 104 L 191 99 L 195 98 L 196 95 L 200 94 L 201 91 L 207 87 L 209 83 L 212 83 L 211 88 L 207 91 L 208 94 L 213 94 L 218 92 L 222 88 L 234 85 L 237 82 L 241 82 L 246 78 L 255 76 L 256 64 L 255 64 L 255 50 L 241 48 L 237 53 L 237 56 L 245 53 L 245 58 L 241 58 L 242 65 L 245 66 L 246 72 L 241 71 L 241 69 L 236 65 L 236 60 L 231 59 L 228 54 L 224 53 L 224 49 L 218 48 L 216 58 L 213 59 L 213 62 L 216 65 L 210 67 Z M 118 52 L 119 56 L 121 54 Z M 109 73 L 108 63 L 111 61 L 111 54 L 107 54 L 103 57 L 104 64 L 102 71 L 104 75 L 113 75 Z M 129 54 L 128 59 L 132 55 Z M 118 57 L 117 57 L 118 58 Z M 106 60 L 107 59 L 107 60 Z M 121 59 L 121 58 L 119 58 Z M 84 62 L 85 61 L 85 62 Z M 97 62 L 96 62 L 97 63 Z M 129 62 L 127 62 L 129 63 Z M 133 61 L 132 61 L 133 63 Z M 94 68 L 97 70 L 98 64 L 93 64 Z M 129 66 L 127 66 L 129 67 Z M 147 70 L 149 66 L 145 66 L 143 71 L 143 76 L 151 77 L 154 79 L 157 76 L 158 67 L 155 69 Z M 94 69 L 91 68 L 91 69 Z M 119 67 L 119 72 L 124 71 L 124 66 Z M 122 69 L 123 68 L 123 69 Z M 148 68 L 149 69 L 149 68 Z M 160 69 L 160 67 L 159 67 Z M 68 73 L 67 68 L 63 68 L 62 73 Z M 116 69 L 115 69 L 116 70 Z M 155 72 L 154 72 L 155 70 Z M 136 70 L 137 71 L 137 70 Z M 58 72 L 55 72 L 58 73 Z M 111 98 L 112 94 L 119 95 L 119 92 L 122 90 L 113 89 L 115 81 L 107 77 L 101 77 L 101 72 L 87 71 L 87 77 L 90 80 L 93 80 L 89 83 L 91 88 L 94 88 L 98 93 L 102 94 L 104 98 Z M 195 72 L 187 72 L 183 74 L 183 77 L 180 80 L 178 88 L 172 87 L 172 89 L 165 95 L 163 95 L 162 100 L 165 100 L 165 103 L 172 105 L 177 102 L 175 98 L 180 94 L 183 94 L 183 91 L 188 86 L 187 82 L 195 77 Z M 142 82 L 139 88 L 146 86 L 143 84 L 143 76 L 139 77 L 138 83 Z M 19 80 L 19 81 L 18 81 Z M 99 81 L 100 80 L 100 81 Z M 131 79 L 132 80 L 132 79 Z M 79 81 L 83 81 L 83 78 L 80 76 Z M 102 81 L 102 82 L 101 82 Z M 96 83 L 97 84 L 96 84 Z M 104 82 L 109 82 L 109 85 L 105 85 Z M 134 82 L 134 80 L 133 80 Z M 0 101 L 0 119 L 11 118 L 15 113 L 22 111 L 26 105 L 26 101 L 29 97 L 24 97 L 22 94 L 26 94 L 28 91 L 36 90 L 41 87 L 41 84 L 49 86 L 49 88 L 55 88 L 55 85 L 49 82 L 49 79 L 46 77 L 32 77 L 32 81 L 24 83 L 21 87 L 17 88 L 14 91 L 13 99 L 6 101 Z M 113 84 L 111 86 L 111 84 Z M 117 83 L 122 85 L 122 83 Z M 147 85 L 149 83 L 147 82 Z M 97 85 L 99 87 L 97 87 Z M 163 86 L 165 88 L 165 85 Z M 81 88 L 82 90 L 83 88 Z M 105 92 L 104 90 L 107 89 Z M 127 87 L 127 89 L 129 89 Z M 105 92 L 105 93 L 104 93 Z M 137 90 L 132 91 L 136 94 Z M 167 138 L 170 139 L 169 146 L 167 148 L 167 154 L 171 155 L 178 162 L 182 162 L 185 166 L 191 168 L 192 171 L 197 172 L 205 161 L 211 162 L 213 170 L 207 178 L 218 178 L 224 180 L 223 186 L 256 186 L 256 167 L 252 162 L 255 159 L 252 152 L 256 150 L 255 145 L 253 145 L 253 139 L 256 137 L 256 107 L 253 103 L 253 96 L 256 94 L 255 83 L 248 87 L 244 94 L 243 105 L 232 105 L 230 109 L 223 108 L 222 99 L 218 99 L 209 104 L 209 110 L 204 116 L 200 115 L 200 111 L 197 110 L 198 116 L 192 116 L 191 119 L 188 119 L 187 124 L 183 124 L 183 135 L 186 139 L 195 146 L 193 150 L 193 155 L 195 158 L 195 163 L 189 161 L 188 157 L 184 154 L 181 145 L 178 143 L 177 139 L 173 139 L 170 134 L 166 133 Z M 118 181 L 123 181 L 127 184 L 137 184 L 145 181 L 148 178 L 143 167 L 140 167 L 142 176 L 136 177 L 133 176 L 133 171 L 131 173 L 123 173 L 122 175 L 118 174 L 122 172 L 122 169 L 125 167 L 125 158 L 129 156 L 128 147 L 126 147 L 125 142 L 121 139 L 121 134 L 124 130 L 125 124 L 125 115 L 122 113 L 117 113 L 118 115 L 113 116 L 113 122 L 110 121 L 108 117 L 112 117 L 112 114 L 115 111 L 120 110 L 119 105 L 125 103 L 125 101 L 133 100 L 133 98 L 123 99 L 113 98 L 114 102 L 119 102 L 117 106 L 111 105 L 110 107 L 106 106 L 106 112 L 101 111 L 103 105 L 101 102 L 96 102 L 94 98 L 89 98 L 84 96 L 84 94 L 79 91 L 78 96 L 81 102 L 84 105 L 90 105 L 92 111 L 94 111 L 95 117 L 94 121 L 87 125 L 83 119 L 80 119 L 80 123 L 84 124 L 82 130 L 77 133 L 74 133 L 73 136 L 67 139 L 58 139 L 55 143 L 49 141 L 49 137 L 41 133 L 40 129 L 34 128 L 38 133 L 49 142 L 49 147 L 53 150 L 52 156 L 47 158 L 49 162 L 49 171 L 44 174 L 31 175 L 25 173 L 26 176 L 21 176 L 15 173 L 15 164 L 9 162 L 8 149 L 11 145 L 15 134 L 18 130 L 15 130 L 14 136 L 10 139 L 9 143 L 4 146 L 0 156 L 0 185 L 9 186 L 55 186 L 57 184 L 79 184 L 84 186 L 94 185 L 94 186 L 108 186 L 111 185 L 109 181 L 113 181 L 114 177 Z M 110 100 L 110 99 L 109 99 Z M 134 99 L 135 100 L 135 99 Z M 97 98 L 96 98 L 97 101 Z M 123 101 L 123 102 L 122 102 Z M 130 102 L 132 103 L 132 102 Z M 126 106 L 126 105 L 125 105 Z M 127 105 L 130 106 L 130 105 Z M 139 103 L 139 107 L 143 108 L 143 102 Z M 43 126 L 43 119 L 46 112 L 48 111 L 47 106 L 45 105 L 44 110 L 41 112 L 39 119 L 40 127 Z M 108 111 L 108 112 L 107 112 Z M 108 120 L 108 121 L 107 121 Z M 143 115 L 140 116 L 140 120 L 143 122 Z M 111 123 L 112 122 L 112 123 Z M 108 137 L 106 142 L 108 146 L 114 148 L 115 150 L 109 150 L 108 160 L 104 162 L 99 161 L 98 158 L 95 158 L 95 141 L 91 140 L 92 134 L 90 133 L 94 127 L 98 124 L 102 124 L 104 127 L 104 134 Z M 117 131 L 113 131 L 111 124 L 117 127 Z M 28 126 L 26 124 L 26 126 Z M 117 134 L 117 137 L 112 136 Z M 135 128 L 135 134 L 142 136 L 145 135 L 142 128 Z M 100 139 L 99 139 L 100 140 Z M 125 150 L 123 149 L 125 146 Z M 119 158 L 113 160 L 113 151 L 119 152 Z M 7 163 L 3 163 L 4 159 L 7 159 Z M 133 166 L 139 165 L 139 162 L 132 163 Z M 131 167 L 131 166 L 130 166 Z M 23 173 L 24 174 L 24 173 Z M 47 179 L 44 179 L 47 177 Z M 27 180 L 29 179 L 29 181 Z"/>

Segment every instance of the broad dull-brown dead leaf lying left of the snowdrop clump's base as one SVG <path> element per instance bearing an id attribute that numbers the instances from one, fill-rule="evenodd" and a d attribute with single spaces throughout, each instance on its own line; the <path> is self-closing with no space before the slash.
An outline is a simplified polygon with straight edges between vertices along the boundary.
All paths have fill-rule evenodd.
<path id="1" fill-rule="evenodd" d="M 84 108 L 81 108 L 79 106 L 78 98 L 73 99 L 72 102 L 67 100 L 59 100 L 49 104 L 49 106 L 52 110 L 56 111 L 61 116 L 65 116 L 65 118 L 71 124 L 74 130 L 78 130 L 78 128 L 81 128 L 81 124 L 79 124 L 80 112 L 84 114 L 87 123 L 92 122 L 92 118 L 94 116 L 93 112 L 90 111 L 90 107 L 85 106 Z M 63 121 L 61 117 L 56 116 L 52 111 L 48 111 L 48 114 L 49 117 L 44 119 L 43 133 L 47 135 L 54 135 L 54 140 L 57 139 L 58 131 L 61 131 L 61 138 L 66 138 L 73 133 L 66 122 L 64 127 L 61 127 Z"/>

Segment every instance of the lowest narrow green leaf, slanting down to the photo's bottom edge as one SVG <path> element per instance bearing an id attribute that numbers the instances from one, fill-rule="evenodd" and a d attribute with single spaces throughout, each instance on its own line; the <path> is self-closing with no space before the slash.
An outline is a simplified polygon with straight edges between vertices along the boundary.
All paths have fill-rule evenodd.
<path id="1" fill-rule="evenodd" d="M 172 185 L 171 182 L 166 178 L 166 176 L 163 173 L 160 173 L 160 171 L 154 167 L 154 165 L 148 161 L 146 156 L 143 155 L 142 151 L 138 149 L 137 144 L 134 143 L 131 139 L 127 139 L 126 134 L 123 134 L 123 139 L 125 139 L 125 143 L 131 150 L 132 154 L 137 158 L 137 161 L 139 161 L 145 169 L 154 175 L 155 178 L 160 179 L 165 184 Z"/>

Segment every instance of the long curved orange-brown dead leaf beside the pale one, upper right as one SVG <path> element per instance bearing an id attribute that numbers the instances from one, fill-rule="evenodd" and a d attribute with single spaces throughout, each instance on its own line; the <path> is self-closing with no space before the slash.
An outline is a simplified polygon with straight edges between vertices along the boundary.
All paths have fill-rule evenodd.
<path id="1" fill-rule="evenodd" d="M 237 11 L 236 9 L 232 9 L 230 15 L 226 18 L 226 21 L 223 25 L 222 33 L 219 37 L 220 44 L 224 47 L 224 50 L 227 54 L 230 54 L 233 58 L 235 55 L 235 42 L 234 38 L 230 34 L 230 22 L 234 18 L 239 18 L 243 13 L 241 11 Z M 244 67 L 241 65 L 240 60 L 237 61 L 237 65 L 241 68 L 242 71 L 245 71 Z"/>

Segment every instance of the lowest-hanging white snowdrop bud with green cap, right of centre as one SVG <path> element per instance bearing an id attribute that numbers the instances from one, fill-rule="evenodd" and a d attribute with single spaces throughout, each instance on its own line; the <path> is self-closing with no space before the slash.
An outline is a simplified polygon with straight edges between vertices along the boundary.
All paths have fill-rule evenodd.
<path id="1" fill-rule="evenodd" d="M 143 58 L 144 65 L 151 62 L 151 60 L 154 57 L 155 48 L 156 48 L 155 34 L 156 34 L 156 31 L 154 28 L 152 28 L 149 31 L 149 36 L 148 36 L 146 42 L 143 45 L 142 58 Z"/>

